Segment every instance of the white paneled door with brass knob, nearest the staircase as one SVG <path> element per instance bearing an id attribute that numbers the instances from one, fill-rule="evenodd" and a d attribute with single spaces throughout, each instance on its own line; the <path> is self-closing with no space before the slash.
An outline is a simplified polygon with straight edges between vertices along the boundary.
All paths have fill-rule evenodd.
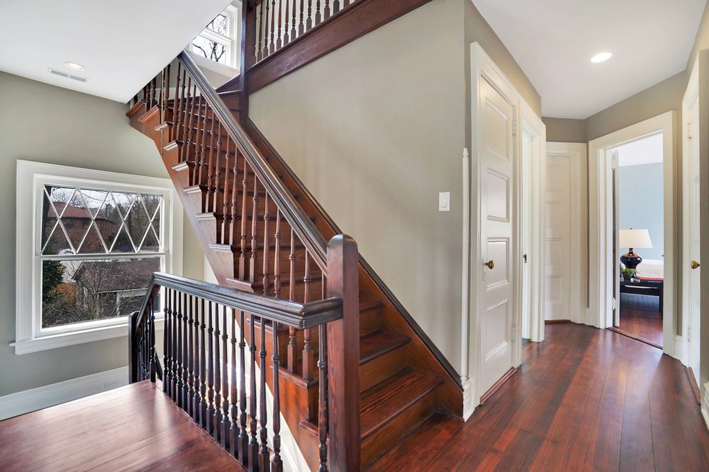
<path id="1" fill-rule="evenodd" d="M 513 367 L 514 107 L 480 80 L 480 210 L 484 258 L 479 392 L 488 391 Z"/>

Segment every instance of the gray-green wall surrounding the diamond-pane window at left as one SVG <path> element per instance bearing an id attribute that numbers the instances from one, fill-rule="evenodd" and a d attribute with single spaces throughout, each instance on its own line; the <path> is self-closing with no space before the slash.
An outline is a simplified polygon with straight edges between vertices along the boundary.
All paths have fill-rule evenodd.
<path id="1" fill-rule="evenodd" d="M 20 356 L 9 346 L 15 338 L 16 161 L 167 177 L 155 144 L 128 125 L 125 111 L 121 103 L 0 72 L 0 396 L 128 364 L 127 338 Z M 202 263 L 188 224 L 184 274 L 201 278 Z"/>

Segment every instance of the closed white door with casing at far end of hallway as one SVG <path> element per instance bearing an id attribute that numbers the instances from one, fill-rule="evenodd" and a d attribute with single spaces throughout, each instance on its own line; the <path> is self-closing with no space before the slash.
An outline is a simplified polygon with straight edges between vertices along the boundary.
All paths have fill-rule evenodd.
<path id="1" fill-rule="evenodd" d="M 545 219 L 545 319 L 583 323 L 586 144 L 547 142 Z"/>

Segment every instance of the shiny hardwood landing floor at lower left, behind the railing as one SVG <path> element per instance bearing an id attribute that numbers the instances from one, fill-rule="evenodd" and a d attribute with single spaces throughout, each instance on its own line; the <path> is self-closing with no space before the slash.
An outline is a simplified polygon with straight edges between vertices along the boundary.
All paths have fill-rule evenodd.
<path id="1" fill-rule="evenodd" d="M 0 422 L 0 470 L 242 471 L 150 381 Z"/>

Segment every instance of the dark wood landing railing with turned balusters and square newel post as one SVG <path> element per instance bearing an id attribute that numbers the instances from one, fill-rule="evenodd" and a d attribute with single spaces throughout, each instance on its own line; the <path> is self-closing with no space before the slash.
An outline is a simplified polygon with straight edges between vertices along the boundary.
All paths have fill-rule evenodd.
<path id="1" fill-rule="evenodd" d="M 131 316 L 130 382 L 156 380 L 162 306 L 164 393 L 249 471 L 282 471 L 281 410 L 292 405 L 279 388 L 279 326 L 317 328 L 318 470 L 359 470 L 359 357 L 343 349 L 359 335 L 357 254 L 352 238 L 335 236 L 328 267 L 337 296 L 307 303 L 156 272 L 143 308 Z"/>

